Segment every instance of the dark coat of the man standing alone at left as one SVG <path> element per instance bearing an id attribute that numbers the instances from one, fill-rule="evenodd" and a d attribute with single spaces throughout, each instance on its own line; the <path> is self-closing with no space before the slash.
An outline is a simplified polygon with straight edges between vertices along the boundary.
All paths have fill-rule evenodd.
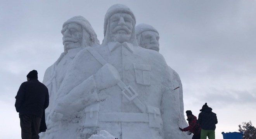
<path id="1" fill-rule="evenodd" d="M 48 89 L 37 79 L 21 84 L 16 95 L 15 108 L 20 114 L 43 116 L 43 110 L 49 105 Z"/>

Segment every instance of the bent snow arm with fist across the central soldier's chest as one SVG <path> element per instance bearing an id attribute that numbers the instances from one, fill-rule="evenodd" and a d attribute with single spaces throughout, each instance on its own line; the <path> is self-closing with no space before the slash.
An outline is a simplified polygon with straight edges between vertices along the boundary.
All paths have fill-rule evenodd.
<path id="1" fill-rule="evenodd" d="M 61 97 L 54 107 L 51 119 L 66 119 L 75 112 L 99 101 L 99 90 L 116 85 L 120 76 L 111 64 L 105 64 L 95 75 L 90 76 L 75 86 L 67 95 Z M 57 114 L 56 116 L 54 116 Z"/>

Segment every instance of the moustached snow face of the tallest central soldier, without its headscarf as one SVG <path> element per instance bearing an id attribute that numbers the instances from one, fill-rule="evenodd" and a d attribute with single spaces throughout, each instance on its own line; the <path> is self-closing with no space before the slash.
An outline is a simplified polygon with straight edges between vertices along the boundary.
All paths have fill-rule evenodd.
<path id="1" fill-rule="evenodd" d="M 133 28 L 133 19 L 126 13 L 117 13 L 109 19 L 109 30 L 113 42 L 126 42 L 130 40 Z"/>

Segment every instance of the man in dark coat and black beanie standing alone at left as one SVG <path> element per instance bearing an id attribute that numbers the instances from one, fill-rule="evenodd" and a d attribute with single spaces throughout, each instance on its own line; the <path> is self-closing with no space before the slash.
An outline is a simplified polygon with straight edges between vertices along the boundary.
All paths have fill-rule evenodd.
<path id="1" fill-rule="evenodd" d="M 38 81 L 37 71 L 30 71 L 16 95 L 15 108 L 19 112 L 22 139 L 39 139 L 43 111 L 49 105 L 48 89 Z"/>

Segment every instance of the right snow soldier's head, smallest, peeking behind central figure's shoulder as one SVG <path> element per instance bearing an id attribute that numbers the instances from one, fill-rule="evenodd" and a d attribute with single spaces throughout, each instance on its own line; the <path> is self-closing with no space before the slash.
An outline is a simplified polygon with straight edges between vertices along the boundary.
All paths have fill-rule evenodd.
<path id="1" fill-rule="evenodd" d="M 159 51 L 159 33 L 148 24 L 139 24 L 135 27 L 138 45 L 145 49 Z"/>

